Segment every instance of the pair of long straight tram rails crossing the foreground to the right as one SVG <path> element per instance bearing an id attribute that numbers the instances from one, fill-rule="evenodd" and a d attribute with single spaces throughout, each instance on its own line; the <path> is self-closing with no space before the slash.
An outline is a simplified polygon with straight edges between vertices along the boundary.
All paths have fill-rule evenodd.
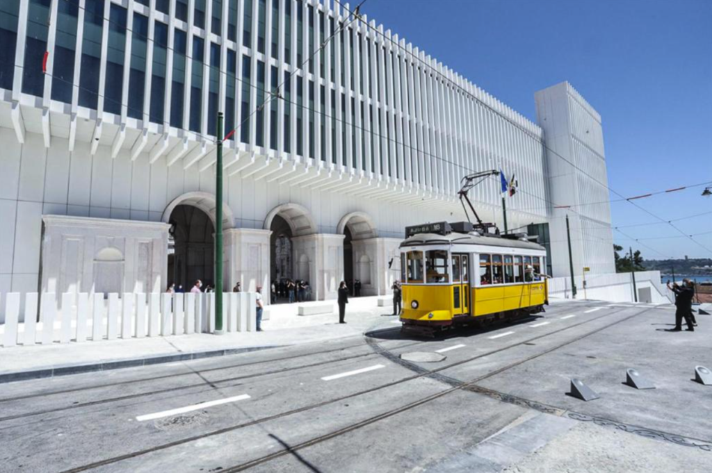
<path id="1" fill-rule="evenodd" d="M 612 309 L 613 309 L 613 308 L 612 308 Z M 118 455 L 118 456 L 116 456 L 116 457 L 111 457 L 111 458 L 108 458 L 108 459 L 99 460 L 98 462 L 92 462 L 92 463 L 85 464 L 85 465 L 82 465 L 82 466 L 79 466 L 79 467 L 73 467 L 73 468 L 70 468 L 70 469 L 63 470 L 63 473 L 85 472 L 85 471 L 88 471 L 88 470 L 90 470 L 90 469 L 95 469 L 95 468 L 98 468 L 98 467 L 104 467 L 104 466 L 109 465 L 109 464 L 115 464 L 115 463 L 117 463 L 117 462 L 122 462 L 122 461 L 125 461 L 125 460 L 128 460 L 128 459 L 132 459 L 132 458 L 136 458 L 136 457 L 141 457 L 142 455 L 148 455 L 148 454 L 153 453 L 153 452 L 159 452 L 159 451 L 162 451 L 162 450 L 167 450 L 167 449 L 172 448 L 172 447 L 177 447 L 177 446 L 179 446 L 179 445 L 185 445 L 185 444 L 187 444 L 187 443 L 195 442 L 195 441 L 197 441 L 197 440 L 202 440 L 202 439 L 205 439 L 205 438 L 208 438 L 208 437 L 214 437 L 214 436 L 216 436 L 216 435 L 223 435 L 223 434 L 226 434 L 226 433 L 229 433 L 229 432 L 234 432 L 234 431 L 236 431 L 236 430 L 244 429 L 244 428 L 246 428 L 246 427 L 251 427 L 251 426 L 253 426 L 253 425 L 259 425 L 259 424 L 263 424 L 263 423 L 265 423 L 265 422 L 270 422 L 270 421 L 272 421 L 272 420 L 278 420 L 278 419 L 281 419 L 281 418 L 286 418 L 286 417 L 288 417 L 288 416 L 290 416 L 290 415 L 295 415 L 295 414 L 298 414 L 298 413 L 307 412 L 307 411 L 309 411 L 309 410 L 313 410 L 313 409 L 316 409 L 316 408 L 320 408 L 320 407 L 323 407 L 323 406 L 325 406 L 325 405 L 331 405 L 331 404 L 334 404 L 334 403 L 339 403 L 339 402 L 341 402 L 342 400 L 347 400 L 347 399 L 350 399 L 350 398 L 355 398 L 355 397 L 360 396 L 360 395 L 366 395 L 366 394 L 369 394 L 369 393 L 374 393 L 374 392 L 377 392 L 377 391 L 379 391 L 379 390 L 383 390 L 383 389 L 386 389 L 386 388 L 390 388 L 390 387 L 392 387 L 392 386 L 397 386 L 397 385 L 400 385 L 400 384 L 402 384 L 402 383 L 407 383 L 408 381 L 413 381 L 413 380 L 415 380 L 415 379 L 424 378 L 424 377 L 426 377 L 426 376 L 431 376 L 431 375 L 434 374 L 434 373 L 439 373 L 439 372 L 444 371 L 444 370 L 447 370 L 447 369 L 449 369 L 449 368 L 453 368 L 454 366 L 460 366 L 460 365 L 462 365 L 462 364 L 464 364 L 464 363 L 468 363 L 468 362 L 471 362 L 471 361 L 475 361 L 475 360 L 477 360 L 477 359 L 479 359 L 479 358 L 483 358 L 483 357 L 486 357 L 486 356 L 491 356 L 491 355 L 493 355 L 493 354 L 500 353 L 501 351 L 506 351 L 506 350 L 508 350 L 508 349 L 513 349 L 513 348 L 515 348 L 515 347 L 517 347 L 517 346 L 522 346 L 522 345 L 528 344 L 528 343 L 530 343 L 530 342 L 532 342 L 532 341 L 536 341 L 536 340 L 539 340 L 539 339 L 543 339 L 544 337 L 547 337 L 547 336 L 551 336 L 551 335 L 554 335 L 554 334 L 558 334 L 558 333 L 560 333 L 560 332 L 562 332 L 562 331 L 567 331 L 567 330 L 570 330 L 570 329 L 574 329 L 574 328 L 577 327 L 577 326 L 582 326 L 582 325 L 584 325 L 584 324 L 590 324 L 590 323 L 592 323 L 592 322 L 594 322 L 594 321 L 603 319 L 603 318 L 605 318 L 605 317 L 611 317 L 611 316 L 613 316 L 613 315 L 615 315 L 615 314 L 618 314 L 619 312 L 622 312 L 622 310 L 613 310 L 612 312 L 609 312 L 609 313 L 607 313 L 607 314 L 602 314 L 602 315 L 600 315 L 600 316 L 598 316 L 598 317 L 592 317 L 591 319 L 587 319 L 587 320 L 585 320 L 585 321 L 580 321 L 580 322 L 578 322 L 577 324 L 571 324 L 571 325 L 562 327 L 562 328 L 560 328 L 560 329 L 557 329 L 557 330 L 555 330 L 555 331 L 550 331 L 550 332 L 545 333 L 545 334 L 540 334 L 540 335 L 538 335 L 538 336 L 533 336 L 533 337 L 530 337 L 530 338 L 525 339 L 525 340 L 523 340 L 523 341 L 515 342 L 515 343 L 513 343 L 513 344 L 508 344 L 508 345 L 502 346 L 502 347 L 500 347 L 500 348 L 498 348 L 498 349 L 493 349 L 493 350 L 491 350 L 491 351 L 487 351 L 487 352 L 485 352 L 485 353 L 478 354 L 478 355 L 476 355 L 476 356 L 471 356 L 471 357 L 466 358 L 466 359 L 461 360 L 461 361 L 456 361 L 456 362 L 454 362 L 454 363 L 449 363 L 449 364 L 446 365 L 446 366 L 441 366 L 441 367 L 439 367 L 439 368 L 434 368 L 434 369 L 432 369 L 432 370 L 427 370 L 427 371 L 425 371 L 424 373 L 415 373 L 415 374 L 412 375 L 412 376 L 407 376 L 407 377 L 405 377 L 405 378 L 400 378 L 400 379 L 398 379 L 398 380 L 396 380 L 396 381 L 391 381 L 391 382 L 389 382 L 389 383 L 384 383 L 384 384 L 382 384 L 382 385 L 375 386 L 375 387 L 373 387 L 373 388 L 367 388 L 367 389 L 364 389 L 364 390 L 357 391 L 357 392 L 355 392 L 355 393 L 350 393 L 350 394 L 347 394 L 347 395 L 342 395 L 342 396 L 339 396 L 339 397 L 337 397 L 337 398 L 332 398 L 332 399 L 329 399 L 329 400 L 323 400 L 323 401 L 320 401 L 320 402 L 318 402 L 318 403 L 312 403 L 312 404 L 310 404 L 310 405 L 305 405 L 305 406 L 303 406 L 303 407 L 301 407 L 301 408 L 296 408 L 296 409 L 293 409 L 293 410 L 288 410 L 288 411 L 283 412 L 283 413 L 278 413 L 278 414 L 274 414 L 274 415 L 268 415 L 268 416 L 265 416 L 265 417 L 263 417 L 263 418 L 256 418 L 256 419 L 250 420 L 250 421 L 248 421 L 248 422 L 243 422 L 243 423 L 236 424 L 236 425 L 230 425 L 230 426 L 228 426 L 228 427 L 222 427 L 222 428 L 220 428 L 220 429 L 213 430 L 213 431 L 211 431 L 211 432 L 205 432 L 205 433 L 199 434 L 199 435 L 193 435 L 193 436 L 190 436 L 190 437 L 184 437 L 184 438 L 182 438 L 182 439 L 174 440 L 174 441 L 172 441 L 172 442 L 167 442 L 167 443 L 164 443 L 164 444 L 162 444 L 162 445 L 155 445 L 154 447 L 148 447 L 148 448 L 146 448 L 146 449 L 137 450 L 137 451 L 135 451 L 135 452 L 126 453 L 126 454 L 124 454 L 124 455 Z M 632 317 L 636 317 L 637 315 L 642 314 L 643 312 L 645 312 L 645 311 L 642 310 L 642 311 L 636 312 L 635 314 L 632 314 L 632 315 L 630 315 L 630 316 L 628 316 L 628 317 L 624 317 L 624 319 L 620 319 L 620 320 L 614 321 L 614 322 L 612 322 L 611 324 L 607 324 L 607 325 L 605 325 L 605 326 L 600 327 L 599 329 L 595 329 L 594 331 L 590 331 L 590 332 L 588 332 L 587 334 L 584 334 L 583 336 L 579 336 L 579 337 L 577 337 L 577 338 L 575 338 L 575 339 L 573 339 L 573 340 L 571 340 L 571 341 L 565 342 L 564 344 L 557 345 L 557 346 L 553 347 L 553 349 L 549 349 L 549 350 L 545 351 L 545 352 L 542 353 L 542 354 L 538 354 L 538 356 L 543 356 L 544 354 L 549 353 L 550 351 L 553 351 L 553 350 L 555 350 L 555 349 L 561 348 L 561 346 L 566 346 L 566 345 L 568 345 L 568 344 L 573 343 L 574 341 L 578 341 L 578 340 L 580 340 L 580 339 L 582 339 L 582 338 L 585 338 L 586 336 L 590 336 L 590 335 L 592 335 L 592 334 L 596 334 L 596 333 L 598 333 L 598 332 L 600 332 L 600 331 L 602 331 L 602 330 L 604 330 L 604 329 L 607 329 L 607 328 L 610 327 L 610 326 L 614 326 L 614 325 L 616 325 L 616 324 L 622 323 L 623 321 L 627 321 L 627 320 L 631 319 Z M 369 338 L 370 338 L 370 337 L 367 337 L 367 343 L 369 343 Z M 374 345 L 372 345 L 372 346 L 374 346 Z M 375 346 L 377 346 L 377 345 L 375 345 Z M 375 353 L 377 353 L 377 354 L 382 354 L 381 351 L 382 351 L 382 349 L 379 349 L 378 351 L 375 351 Z M 536 356 L 534 356 L 534 357 L 536 357 Z M 529 361 L 529 359 L 533 359 L 533 358 L 532 358 L 532 357 L 528 357 L 528 358 L 526 358 L 526 359 L 523 360 L 523 361 L 518 361 L 518 362 L 515 362 L 515 363 L 511 363 L 511 366 L 508 365 L 508 366 L 506 366 L 506 367 L 503 368 L 503 369 L 497 370 L 496 372 L 487 373 L 487 374 L 484 375 L 484 376 L 480 376 L 480 377 L 478 377 L 478 378 L 475 378 L 474 380 L 468 381 L 467 384 L 470 384 L 470 383 L 471 383 L 471 384 L 474 384 L 474 383 L 476 383 L 476 382 L 478 382 L 478 381 L 481 381 L 481 380 L 484 379 L 484 378 L 488 378 L 489 376 L 494 376 L 495 374 L 501 373 L 501 371 L 504 371 L 505 369 L 510 369 L 510 368 L 513 368 L 514 366 L 518 366 L 518 365 L 521 364 L 521 363 L 525 363 L 526 361 Z M 321 436 L 319 436 L 319 437 L 315 437 L 314 439 L 308 440 L 308 441 L 306 441 L 306 442 L 302 442 L 302 443 L 300 443 L 300 444 L 298 444 L 298 445 L 294 445 L 293 447 L 289 447 L 289 448 L 287 448 L 287 449 L 285 449 L 285 450 L 281 450 L 281 451 L 279 451 L 279 452 L 274 452 L 273 454 L 266 455 L 265 457 L 260 457 L 260 458 L 258 458 L 258 459 L 253 459 L 253 460 L 251 460 L 250 462 L 246 462 L 246 463 L 244 463 L 244 464 L 239 464 L 239 465 L 236 465 L 236 466 L 234 466 L 234 467 L 223 468 L 223 469 L 221 469 L 221 472 L 238 472 L 238 471 L 243 471 L 244 469 L 248 469 L 248 468 L 250 468 L 250 467 L 257 466 L 258 464 L 262 464 L 262 463 L 265 463 L 265 462 L 269 462 L 269 461 L 271 461 L 272 459 L 276 459 L 276 458 L 281 457 L 281 456 L 283 456 L 283 455 L 288 455 L 289 453 L 294 452 L 294 451 L 296 451 L 296 450 L 301 450 L 301 449 L 303 449 L 303 448 L 305 448 L 305 447 L 309 447 L 309 446 L 311 446 L 311 445 L 315 445 L 315 444 L 318 444 L 318 443 L 320 443 L 320 442 L 324 442 L 325 440 L 329 440 L 330 438 L 337 437 L 337 436 L 339 436 L 339 435 L 343 435 L 343 434 L 345 434 L 345 433 L 347 433 L 347 432 L 351 432 L 351 431 L 353 431 L 353 430 L 357 430 L 357 429 L 359 429 L 359 428 L 361 428 L 361 427 L 365 427 L 366 425 L 370 425 L 370 424 L 372 424 L 372 423 L 374 423 L 374 422 L 377 422 L 378 420 L 382 420 L 382 419 L 385 419 L 385 418 L 392 417 L 393 415 L 397 415 L 398 413 L 404 412 L 405 410 L 410 410 L 410 409 L 412 409 L 412 408 L 415 408 L 415 407 L 417 407 L 418 405 L 423 405 L 423 404 L 425 404 L 425 403 L 429 403 L 431 400 L 435 400 L 435 399 L 437 399 L 437 398 L 441 398 L 442 396 L 447 395 L 447 394 L 449 394 L 449 393 L 451 393 L 451 392 L 454 392 L 455 390 L 462 390 L 464 387 L 465 387 L 465 386 L 457 386 L 457 387 L 449 388 L 449 389 L 444 390 L 444 391 L 441 391 L 441 392 L 439 392 L 439 393 L 435 393 L 434 395 L 429 395 L 429 396 L 427 396 L 426 398 L 422 398 L 422 399 L 420 399 L 420 400 L 414 401 L 413 403 L 409 403 L 409 404 L 407 404 L 407 405 L 404 405 L 404 406 L 402 406 L 402 407 L 400 407 L 400 408 L 396 408 L 396 409 L 393 409 L 393 410 L 389 410 L 389 411 L 387 411 L 386 413 L 382 413 L 382 414 L 380 414 L 380 415 L 374 416 L 374 417 L 372 417 L 372 418 L 368 418 L 368 419 L 363 420 L 363 421 L 361 421 L 361 422 L 357 422 L 357 423 L 352 424 L 352 425 L 349 425 L 349 426 L 347 426 L 347 427 L 343 427 L 342 429 L 336 430 L 335 432 L 330 432 L 329 434 L 321 435 Z"/>

